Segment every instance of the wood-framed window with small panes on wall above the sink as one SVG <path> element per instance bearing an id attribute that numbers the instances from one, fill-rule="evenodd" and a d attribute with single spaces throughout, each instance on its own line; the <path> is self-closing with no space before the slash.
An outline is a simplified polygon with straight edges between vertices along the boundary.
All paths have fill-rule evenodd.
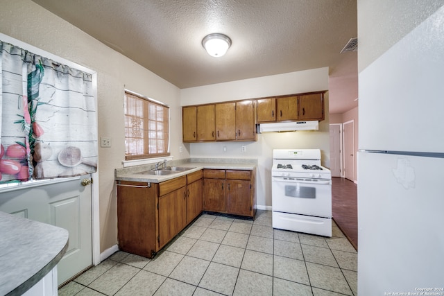
<path id="1" fill-rule="evenodd" d="M 126 160 L 169 155 L 169 107 L 125 91 Z"/>

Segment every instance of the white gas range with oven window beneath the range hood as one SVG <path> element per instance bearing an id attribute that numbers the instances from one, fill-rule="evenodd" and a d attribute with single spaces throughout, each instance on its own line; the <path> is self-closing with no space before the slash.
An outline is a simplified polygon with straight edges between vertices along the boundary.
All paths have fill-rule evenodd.
<path id="1" fill-rule="evenodd" d="M 319 149 L 274 149 L 273 228 L 332 236 L 332 174 Z"/>

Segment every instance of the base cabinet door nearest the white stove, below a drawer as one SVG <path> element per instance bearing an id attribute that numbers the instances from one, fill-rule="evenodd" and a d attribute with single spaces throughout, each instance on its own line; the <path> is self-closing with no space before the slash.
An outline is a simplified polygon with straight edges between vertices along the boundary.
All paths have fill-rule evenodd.
<path id="1" fill-rule="evenodd" d="M 250 181 L 227 180 L 228 213 L 251 216 L 253 202 L 250 191 Z"/>

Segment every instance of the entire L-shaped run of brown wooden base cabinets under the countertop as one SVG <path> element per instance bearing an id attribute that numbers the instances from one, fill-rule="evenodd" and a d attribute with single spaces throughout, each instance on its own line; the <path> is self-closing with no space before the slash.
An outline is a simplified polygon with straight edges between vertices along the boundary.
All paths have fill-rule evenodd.
<path id="1" fill-rule="evenodd" d="M 203 210 L 253 218 L 255 170 L 200 170 L 161 183 L 117 181 L 119 249 L 153 258 Z"/>

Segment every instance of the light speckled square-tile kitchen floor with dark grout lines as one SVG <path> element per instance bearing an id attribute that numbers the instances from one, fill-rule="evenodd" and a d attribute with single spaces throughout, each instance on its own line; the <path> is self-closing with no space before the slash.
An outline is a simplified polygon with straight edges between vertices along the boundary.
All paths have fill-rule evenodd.
<path id="1" fill-rule="evenodd" d="M 334 223 L 333 223 L 334 224 Z M 116 252 L 59 295 L 357 295 L 357 252 L 332 238 L 203 214 L 153 260 Z"/>

